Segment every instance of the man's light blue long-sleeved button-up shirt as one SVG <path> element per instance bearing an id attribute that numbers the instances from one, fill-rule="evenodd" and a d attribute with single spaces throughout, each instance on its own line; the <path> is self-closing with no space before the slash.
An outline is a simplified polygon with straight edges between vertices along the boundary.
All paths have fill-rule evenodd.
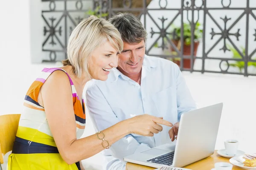
<path id="1" fill-rule="evenodd" d="M 145 113 L 174 124 L 179 122 L 182 113 L 196 108 L 179 67 L 167 59 L 149 56 L 143 61 L 141 85 L 113 68 L 107 81 L 91 82 L 86 98 L 97 131 Z M 103 168 L 125 170 L 124 156 L 171 142 L 170 128 L 163 125 L 163 131 L 153 137 L 125 136 L 110 149 L 102 151 Z"/>

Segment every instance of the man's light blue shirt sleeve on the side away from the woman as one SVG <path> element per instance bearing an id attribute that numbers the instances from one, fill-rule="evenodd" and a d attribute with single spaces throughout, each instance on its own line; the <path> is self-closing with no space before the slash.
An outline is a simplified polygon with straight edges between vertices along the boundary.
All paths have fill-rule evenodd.
<path id="1" fill-rule="evenodd" d="M 177 91 L 177 110 L 178 122 L 182 113 L 195 110 L 197 108 L 194 99 L 192 98 L 189 88 L 186 85 L 185 79 L 176 65 L 177 78 L 176 78 L 176 91 Z"/>

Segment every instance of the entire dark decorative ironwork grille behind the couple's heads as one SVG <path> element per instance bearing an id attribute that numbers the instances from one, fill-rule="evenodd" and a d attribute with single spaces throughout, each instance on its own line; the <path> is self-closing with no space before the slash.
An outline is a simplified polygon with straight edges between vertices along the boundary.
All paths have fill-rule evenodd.
<path id="1" fill-rule="evenodd" d="M 67 8 L 67 2 L 74 3 L 74 9 L 70 10 Z M 72 29 L 80 22 L 84 17 L 87 17 L 85 14 L 90 6 L 85 2 L 92 2 L 92 9 L 99 8 L 99 14 L 108 12 L 108 17 L 113 16 L 118 12 L 132 12 L 137 15 L 140 20 L 143 21 L 143 25 L 148 31 L 148 40 L 146 54 L 156 57 L 162 57 L 165 59 L 178 59 L 179 66 L 181 71 L 190 71 L 190 72 L 210 72 L 210 73 L 223 73 L 223 74 L 241 74 L 244 76 L 255 76 L 256 73 L 250 73 L 248 68 L 251 65 L 256 63 L 256 59 L 253 57 L 256 54 L 256 48 L 249 52 L 249 38 L 253 37 L 252 40 L 256 41 L 256 28 L 255 32 L 249 32 L 249 17 L 252 17 L 256 20 L 256 15 L 253 13 L 253 10 L 256 10 L 254 7 L 250 7 L 250 0 L 242 0 L 241 3 L 246 3 L 245 7 L 232 7 L 232 0 L 216 0 L 216 3 L 220 4 L 220 7 L 210 7 L 207 6 L 207 1 L 209 0 L 180 0 L 180 7 L 174 8 L 170 5 L 169 0 L 151 0 L 151 3 L 154 1 L 154 6 L 148 7 L 150 0 L 42 0 L 43 3 L 49 3 L 49 9 L 47 11 L 42 11 L 42 17 L 45 21 L 44 26 L 44 35 L 46 39 L 43 42 L 43 51 L 49 53 L 48 61 L 59 60 L 59 53 L 62 53 L 63 59 L 66 56 L 67 48 L 67 39 L 69 33 Z M 134 6 L 134 3 L 140 1 L 143 5 L 140 7 Z M 157 2 L 155 2 L 157 1 Z M 252 1 L 252 0 L 251 0 Z M 64 3 L 63 10 L 59 10 L 59 3 Z M 115 3 L 115 4 L 113 4 Z M 116 4 L 119 4 L 117 6 Z M 121 7 L 120 7 L 121 4 Z M 57 8 L 58 7 L 58 8 Z M 226 13 L 221 16 L 221 21 L 218 22 L 216 17 L 212 14 L 213 11 L 241 11 L 241 14 L 238 15 L 235 20 L 231 20 L 231 17 L 234 16 Z M 158 15 L 152 14 L 154 11 L 159 11 Z M 161 14 L 162 12 L 169 12 L 168 14 Z M 81 14 L 71 14 L 72 12 L 81 12 Z M 46 14 L 51 14 L 47 16 Z M 55 14 L 60 13 L 61 16 L 55 16 Z M 245 17 L 246 25 L 239 25 L 241 18 Z M 69 20 L 69 22 L 67 22 Z M 180 28 L 171 29 L 171 26 L 174 23 L 177 23 L 179 20 Z M 206 21 L 211 21 L 214 26 L 209 26 L 206 24 Z M 159 22 L 160 21 L 160 22 Z M 199 51 L 201 55 L 199 56 L 195 53 L 198 47 L 198 37 L 196 31 L 198 31 L 197 23 L 201 21 L 203 32 L 201 34 L 200 45 L 202 51 Z M 231 23 L 232 22 L 232 23 Z M 63 24 L 64 23 L 64 24 Z M 150 27 L 148 26 L 150 24 Z M 185 33 L 187 30 L 184 30 L 184 24 L 188 23 L 189 29 L 191 30 L 191 35 L 189 35 L 189 40 L 191 42 L 188 45 L 185 42 L 185 39 L 188 37 Z M 227 28 L 227 23 L 231 24 Z M 62 24 L 62 25 L 61 25 Z M 186 25 L 187 26 L 187 25 Z M 231 30 L 234 26 L 237 31 Z M 216 27 L 216 28 L 215 28 Z M 245 27 L 245 31 L 241 32 Z M 187 28 L 186 28 L 187 29 Z M 218 31 L 216 31 L 218 29 Z M 157 35 L 157 36 L 156 36 Z M 60 38 L 62 37 L 62 39 Z M 64 37 L 64 38 L 63 38 Z M 149 38 L 150 37 L 150 38 Z M 209 37 L 209 40 L 206 39 Z M 243 41 L 244 47 L 243 50 L 237 45 L 239 42 Z M 236 38 L 236 39 L 233 39 Z M 179 43 L 175 43 L 173 40 L 179 39 Z M 241 39 L 241 40 L 240 40 Z M 209 47 L 209 41 L 216 40 Z M 222 48 L 216 47 L 223 40 Z M 207 41 L 207 42 L 206 42 Z M 160 42 L 158 44 L 158 42 Z M 224 54 L 227 54 L 227 51 L 233 50 L 237 52 L 238 57 L 212 57 L 213 51 L 221 51 Z M 53 48 L 47 48 L 46 46 L 50 45 Z M 61 46 L 61 49 L 54 48 L 56 46 Z M 189 47 L 189 51 L 186 51 Z M 172 48 L 172 51 L 170 50 Z M 155 49 L 159 49 L 162 52 L 154 53 Z M 199 48 L 198 48 L 199 49 Z M 166 52 L 167 51 L 167 52 Z M 175 52 L 175 53 L 174 53 Z M 250 53 L 250 54 L 249 54 Z M 187 68 L 185 61 L 190 60 L 189 68 Z M 195 69 L 194 61 L 201 61 L 201 68 Z M 207 62 L 217 62 L 216 70 L 207 68 Z M 232 70 L 236 66 L 239 69 Z M 256 66 L 256 64 L 255 64 Z"/>

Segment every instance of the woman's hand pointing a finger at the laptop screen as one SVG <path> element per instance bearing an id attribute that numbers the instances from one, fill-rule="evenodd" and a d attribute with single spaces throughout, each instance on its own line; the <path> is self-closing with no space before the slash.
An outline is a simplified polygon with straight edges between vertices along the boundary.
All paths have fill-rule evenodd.
<path id="1" fill-rule="evenodd" d="M 172 127 L 172 123 L 163 120 L 163 117 L 155 117 L 148 114 L 135 116 L 129 121 L 129 133 L 134 133 L 142 136 L 154 136 L 154 133 L 159 133 L 163 130 L 161 125 Z M 161 125 L 158 125 L 161 124 Z"/>

